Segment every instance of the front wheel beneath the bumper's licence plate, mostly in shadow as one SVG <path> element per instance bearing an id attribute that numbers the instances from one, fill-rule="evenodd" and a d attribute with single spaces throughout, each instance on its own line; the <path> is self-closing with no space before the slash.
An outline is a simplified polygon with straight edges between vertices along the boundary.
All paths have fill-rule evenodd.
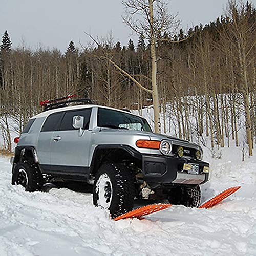
<path id="1" fill-rule="evenodd" d="M 170 189 L 168 194 L 170 204 L 198 207 L 201 200 L 199 185 L 179 185 Z"/>

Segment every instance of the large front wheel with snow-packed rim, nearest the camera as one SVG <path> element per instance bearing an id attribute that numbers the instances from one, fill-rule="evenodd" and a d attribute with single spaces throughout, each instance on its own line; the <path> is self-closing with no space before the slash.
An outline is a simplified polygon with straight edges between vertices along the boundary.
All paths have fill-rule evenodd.
<path id="1" fill-rule="evenodd" d="M 123 164 L 103 164 L 93 186 L 93 204 L 110 210 L 112 218 L 133 209 L 135 197 L 133 173 Z"/>

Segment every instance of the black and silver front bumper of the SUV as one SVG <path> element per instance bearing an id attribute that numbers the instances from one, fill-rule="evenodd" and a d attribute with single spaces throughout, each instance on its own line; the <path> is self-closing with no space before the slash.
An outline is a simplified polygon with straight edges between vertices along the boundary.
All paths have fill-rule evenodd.
<path id="1" fill-rule="evenodd" d="M 184 164 L 197 165 L 198 174 L 188 173 Z M 188 158 L 169 156 L 142 156 L 142 171 L 146 182 L 152 187 L 164 184 L 203 184 L 209 179 L 209 163 Z"/>

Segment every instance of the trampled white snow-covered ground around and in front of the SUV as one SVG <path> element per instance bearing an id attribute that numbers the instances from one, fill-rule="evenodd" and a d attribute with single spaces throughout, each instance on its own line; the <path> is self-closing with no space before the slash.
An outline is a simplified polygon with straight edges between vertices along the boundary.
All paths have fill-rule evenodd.
<path id="1" fill-rule="evenodd" d="M 256 157 L 241 163 L 235 148 L 222 154 L 208 158 L 211 181 L 202 187 L 202 202 L 242 186 L 223 203 L 172 206 L 117 222 L 92 205 L 90 194 L 26 193 L 10 185 L 11 165 L 0 157 L 0 255 L 256 255 Z"/>

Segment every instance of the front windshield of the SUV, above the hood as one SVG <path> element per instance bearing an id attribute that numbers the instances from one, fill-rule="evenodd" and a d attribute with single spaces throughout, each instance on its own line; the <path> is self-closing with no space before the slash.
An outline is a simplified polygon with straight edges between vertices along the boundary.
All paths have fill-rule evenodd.
<path id="1" fill-rule="evenodd" d="M 98 108 L 98 127 L 152 132 L 147 121 L 139 116 Z"/>

